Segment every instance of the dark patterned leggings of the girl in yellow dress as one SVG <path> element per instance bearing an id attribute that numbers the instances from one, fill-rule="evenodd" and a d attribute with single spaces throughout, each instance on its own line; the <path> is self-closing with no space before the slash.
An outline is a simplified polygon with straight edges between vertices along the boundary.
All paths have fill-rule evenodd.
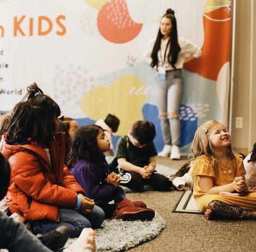
<path id="1" fill-rule="evenodd" d="M 253 217 L 252 211 L 241 209 L 236 205 L 229 205 L 219 200 L 212 200 L 208 204 L 213 214 L 229 219 L 249 219 Z"/>

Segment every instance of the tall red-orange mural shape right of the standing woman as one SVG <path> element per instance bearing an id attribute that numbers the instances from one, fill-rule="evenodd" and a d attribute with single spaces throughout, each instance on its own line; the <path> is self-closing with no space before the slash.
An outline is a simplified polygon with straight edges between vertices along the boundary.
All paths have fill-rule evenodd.
<path id="1" fill-rule="evenodd" d="M 229 61 L 231 47 L 231 19 L 226 8 L 204 15 L 204 45 L 202 57 L 185 64 L 185 69 L 217 81 L 221 67 Z"/>

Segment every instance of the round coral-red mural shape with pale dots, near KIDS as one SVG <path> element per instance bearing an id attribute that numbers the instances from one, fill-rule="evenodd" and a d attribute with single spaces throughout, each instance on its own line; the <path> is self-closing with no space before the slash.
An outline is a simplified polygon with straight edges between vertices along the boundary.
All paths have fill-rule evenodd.
<path id="1" fill-rule="evenodd" d="M 129 42 L 142 30 L 142 24 L 131 19 L 124 0 L 106 3 L 99 11 L 97 25 L 101 35 L 113 43 Z"/>

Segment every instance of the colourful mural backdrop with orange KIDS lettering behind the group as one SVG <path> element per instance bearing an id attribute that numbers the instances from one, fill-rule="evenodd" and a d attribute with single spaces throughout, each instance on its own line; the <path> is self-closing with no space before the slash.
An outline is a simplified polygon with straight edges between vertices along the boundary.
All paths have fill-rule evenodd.
<path id="1" fill-rule="evenodd" d="M 181 152 L 188 152 L 198 125 L 228 121 L 228 0 L 0 0 L 0 111 L 36 82 L 80 125 L 119 117 L 116 140 L 135 120 L 152 121 L 161 149 L 155 71 L 143 53 L 167 8 L 178 35 L 202 47 L 202 57 L 183 69 Z"/>

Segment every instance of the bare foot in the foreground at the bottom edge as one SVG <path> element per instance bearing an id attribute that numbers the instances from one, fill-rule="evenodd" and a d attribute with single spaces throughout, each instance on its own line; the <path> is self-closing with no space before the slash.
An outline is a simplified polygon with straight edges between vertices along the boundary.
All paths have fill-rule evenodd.
<path id="1" fill-rule="evenodd" d="M 77 240 L 72 243 L 64 252 L 96 252 L 95 232 L 90 228 L 85 228 Z"/>

